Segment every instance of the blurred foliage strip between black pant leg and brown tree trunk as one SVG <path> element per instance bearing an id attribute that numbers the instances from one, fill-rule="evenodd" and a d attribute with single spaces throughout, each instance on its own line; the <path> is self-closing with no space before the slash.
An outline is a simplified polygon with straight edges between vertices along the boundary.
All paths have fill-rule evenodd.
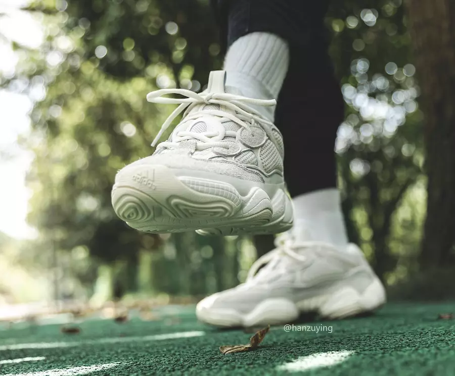
<path id="1" fill-rule="evenodd" d="M 407 234 L 421 234 L 423 221 L 414 216 L 403 232 L 396 218 L 403 205 L 412 213 L 424 205 L 423 199 L 402 202 L 408 189 L 424 189 L 415 185 L 423 166 L 423 117 L 406 23 L 401 0 L 333 2 L 326 19 L 348 105 L 336 143 L 348 231 L 388 283 L 403 278 L 398 265 L 415 267 L 416 252 L 410 257 L 408 250 L 419 249 L 420 238 Z M 401 240 L 393 239 L 397 233 Z"/>

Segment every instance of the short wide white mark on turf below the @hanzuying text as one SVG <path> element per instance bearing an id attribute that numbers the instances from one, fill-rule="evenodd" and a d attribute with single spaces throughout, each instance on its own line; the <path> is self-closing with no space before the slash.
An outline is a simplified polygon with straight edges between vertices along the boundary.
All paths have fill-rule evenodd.
<path id="1" fill-rule="evenodd" d="M 331 351 L 320 352 L 307 356 L 301 356 L 292 362 L 277 367 L 280 371 L 305 371 L 313 368 L 330 367 L 345 361 L 354 351 Z"/>

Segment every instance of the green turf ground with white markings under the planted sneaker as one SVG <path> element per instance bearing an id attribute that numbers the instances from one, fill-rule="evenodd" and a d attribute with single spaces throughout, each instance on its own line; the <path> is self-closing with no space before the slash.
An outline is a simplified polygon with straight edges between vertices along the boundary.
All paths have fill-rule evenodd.
<path id="1" fill-rule="evenodd" d="M 438 319 L 452 311 L 455 304 L 388 304 L 374 316 L 305 323 L 324 332 L 274 327 L 258 350 L 228 355 L 218 347 L 248 343 L 251 334 L 206 327 L 188 307 L 178 309 L 178 324 L 169 324 L 166 312 L 160 321 L 91 319 L 76 335 L 60 333 L 59 325 L 17 324 L 0 327 L 0 375 L 454 376 L 455 320 Z"/>

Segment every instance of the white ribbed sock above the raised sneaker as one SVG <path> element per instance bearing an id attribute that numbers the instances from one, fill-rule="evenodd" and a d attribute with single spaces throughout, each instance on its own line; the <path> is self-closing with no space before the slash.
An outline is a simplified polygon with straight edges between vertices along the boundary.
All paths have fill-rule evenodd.
<path id="1" fill-rule="evenodd" d="M 224 58 L 226 87 L 256 99 L 277 99 L 289 66 L 287 42 L 275 34 L 255 32 L 237 39 Z M 257 106 L 270 121 L 275 106 Z"/>

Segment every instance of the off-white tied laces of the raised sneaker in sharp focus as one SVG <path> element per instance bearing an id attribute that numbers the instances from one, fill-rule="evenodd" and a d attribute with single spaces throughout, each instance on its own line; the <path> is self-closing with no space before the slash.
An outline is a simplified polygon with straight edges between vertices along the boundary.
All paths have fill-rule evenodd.
<path id="1" fill-rule="evenodd" d="M 168 94 L 179 94 L 185 96 L 186 98 L 163 97 L 164 95 Z M 273 123 L 265 119 L 259 112 L 248 106 L 248 104 L 257 106 L 273 106 L 277 104 L 277 101 L 275 99 L 253 99 L 230 93 L 195 93 L 194 91 L 187 89 L 160 89 L 152 91 L 147 94 L 147 100 L 152 103 L 179 104 L 179 106 L 169 115 L 169 117 L 161 126 L 160 131 L 152 142 L 152 146 L 155 146 L 157 144 L 166 129 L 169 128 L 174 119 L 183 111 L 185 111 L 184 120 L 180 124 L 183 124 L 190 120 L 198 119 L 203 116 L 216 116 L 219 118 L 232 120 L 239 126 L 251 131 L 250 127 L 256 124 L 256 122 L 259 125 L 265 124 L 269 126 L 272 126 Z M 219 104 L 220 106 L 224 106 L 226 109 L 233 111 L 235 115 L 214 109 L 202 109 L 191 113 L 191 110 L 200 104 Z M 248 123 L 251 123 L 251 125 Z M 177 134 L 180 141 L 191 139 L 198 140 L 196 143 L 197 150 L 205 150 L 211 147 L 223 147 L 226 149 L 229 148 L 229 145 L 226 145 L 225 142 L 212 140 L 211 137 L 216 137 L 217 135 L 218 132 L 205 132 L 204 134 L 201 134 L 192 131 L 180 131 Z M 178 142 L 165 141 L 161 142 L 158 147 L 178 147 Z"/>

